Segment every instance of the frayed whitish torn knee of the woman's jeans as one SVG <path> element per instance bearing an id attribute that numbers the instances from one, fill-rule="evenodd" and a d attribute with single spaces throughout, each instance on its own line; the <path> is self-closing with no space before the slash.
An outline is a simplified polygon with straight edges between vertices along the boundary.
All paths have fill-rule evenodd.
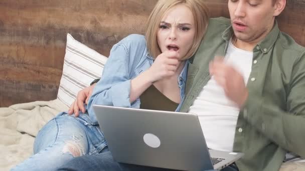
<path id="1" fill-rule="evenodd" d="M 63 153 L 70 153 L 74 157 L 84 155 L 84 146 L 80 142 L 66 141 L 63 147 Z"/>

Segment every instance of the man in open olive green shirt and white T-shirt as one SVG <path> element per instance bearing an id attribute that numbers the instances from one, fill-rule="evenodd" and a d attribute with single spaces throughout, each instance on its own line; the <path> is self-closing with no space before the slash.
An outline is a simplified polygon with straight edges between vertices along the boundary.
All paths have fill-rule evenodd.
<path id="1" fill-rule="evenodd" d="M 287 151 L 305 156 L 305 48 L 279 31 L 275 17 L 285 5 L 229 0 L 231 20 L 210 19 L 189 65 L 181 111 L 198 114 L 209 148 L 245 153 L 239 170 L 278 170 Z M 86 97 L 79 96 L 75 111 Z M 109 152 L 100 155 L 63 167 L 145 169 L 117 163 Z"/>

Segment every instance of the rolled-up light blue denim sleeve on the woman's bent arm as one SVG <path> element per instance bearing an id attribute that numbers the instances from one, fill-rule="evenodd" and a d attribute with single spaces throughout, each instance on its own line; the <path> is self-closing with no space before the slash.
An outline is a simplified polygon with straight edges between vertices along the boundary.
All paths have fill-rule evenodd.
<path id="1" fill-rule="evenodd" d="M 95 117 L 93 104 L 130 107 L 130 79 L 129 52 L 126 45 L 119 42 L 112 47 L 101 79 L 88 101 L 89 114 Z"/>

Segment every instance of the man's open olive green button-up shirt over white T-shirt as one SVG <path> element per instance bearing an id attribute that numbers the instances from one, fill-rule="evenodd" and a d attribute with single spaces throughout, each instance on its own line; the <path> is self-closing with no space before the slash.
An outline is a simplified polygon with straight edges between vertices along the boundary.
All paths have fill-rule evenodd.
<path id="1" fill-rule="evenodd" d="M 209 62 L 225 56 L 233 29 L 228 18 L 212 18 L 189 65 L 187 112 L 210 79 Z M 304 35 L 299 35 L 304 36 Z M 234 151 L 245 155 L 240 170 L 278 170 L 285 153 L 305 156 L 305 48 L 281 32 L 277 22 L 253 49 L 249 97 L 239 112 Z"/>

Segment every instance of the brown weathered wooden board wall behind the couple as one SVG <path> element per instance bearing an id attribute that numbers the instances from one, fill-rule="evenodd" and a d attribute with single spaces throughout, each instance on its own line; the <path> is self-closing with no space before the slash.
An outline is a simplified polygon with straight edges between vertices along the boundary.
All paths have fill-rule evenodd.
<path id="1" fill-rule="evenodd" d="M 109 55 L 130 33 L 143 33 L 158 0 L 1 0 L 0 107 L 57 96 L 66 34 Z M 229 16 L 227 0 L 205 0 L 212 17 Z M 282 31 L 305 45 L 305 0 L 287 0 Z"/>

